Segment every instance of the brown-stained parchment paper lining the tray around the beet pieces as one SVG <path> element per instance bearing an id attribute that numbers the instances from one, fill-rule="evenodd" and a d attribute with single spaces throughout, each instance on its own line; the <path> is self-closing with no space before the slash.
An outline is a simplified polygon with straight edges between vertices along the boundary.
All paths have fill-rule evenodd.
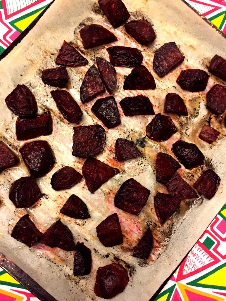
<path id="1" fill-rule="evenodd" d="M 41 191 L 45 193 L 45 196 L 26 211 L 15 209 L 8 199 L 11 183 L 21 176 L 28 175 L 26 167 L 21 163 L 20 166 L 1 173 L 0 250 L 58 300 L 98 299 L 93 293 L 96 269 L 112 261 L 121 262 L 130 273 L 129 285 L 123 293 L 115 297 L 115 300 L 127 300 L 128 297 L 131 300 L 148 300 L 195 244 L 225 202 L 225 192 L 222 188 L 225 183 L 223 118 L 222 116 L 215 118 L 207 112 L 205 107 L 206 91 L 200 93 L 185 92 L 175 82 L 180 70 L 186 67 L 206 70 L 206 66 L 214 54 L 225 56 L 225 39 L 179 0 L 173 3 L 158 0 L 125 1 L 125 4 L 131 13 L 131 20 L 145 16 L 153 23 L 157 39 L 152 45 L 143 47 L 124 35 L 122 28 L 112 29 L 103 18 L 95 1 L 72 3 L 71 1 L 56 0 L 23 41 L 0 62 L 0 96 L 3 116 L 1 119 L 1 136 L 5 137 L 3 140 L 10 144 L 17 153 L 19 147 L 24 143 L 15 140 L 16 117 L 12 116 L 7 109 L 4 99 L 18 83 L 26 83 L 36 96 L 39 112 L 44 109 L 51 110 L 54 131 L 51 136 L 40 137 L 39 139 L 49 141 L 57 162 L 48 175 L 38 179 Z M 153 116 L 130 118 L 124 117 L 120 111 L 121 126 L 116 129 L 106 129 L 107 144 L 105 151 L 98 158 L 111 166 L 120 168 L 121 173 L 103 185 L 94 195 L 87 191 L 84 180 L 67 192 L 56 192 L 50 187 L 49 182 L 52 174 L 61 166 L 69 165 L 81 170 L 84 160 L 78 160 L 71 155 L 73 126 L 68 124 L 56 109 L 49 93 L 53 88 L 45 86 L 40 80 L 42 69 L 55 67 L 55 57 L 63 40 L 72 41 L 86 56 L 89 66 L 93 64 L 95 56 L 103 56 L 108 59 L 106 51 L 108 45 L 88 51 L 83 50 L 78 35 L 81 26 L 78 24 L 81 21 L 83 24 L 99 23 L 110 28 L 118 37 L 118 42 L 111 45 L 131 45 L 143 51 L 143 64 L 149 68 L 157 84 L 155 90 L 145 91 L 143 94 L 150 97 L 155 113 L 163 112 L 164 98 L 168 92 L 180 94 L 184 98 L 189 112 L 188 118 L 180 117 L 178 119 L 173 115 L 171 116 L 179 131 L 168 141 L 156 143 L 146 139 L 146 147 L 141 150 L 143 158 L 121 164 L 113 160 L 115 139 L 121 137 L 134 140 L 143 137 L 145 126 Z M 152 69 L 154 51 L 165 42 L 172 41 L 180 46 L 186 58 L 179 68 L 160 79 Z M 88 66 L 68 68 L 71 79 L 69 91 L 79 104 L 79 88 L 87 69 Z M 118 89 L 115 91 L 116 101 L 119 102 L 125 96 L 138 94 L 136 91 L 122 90 L 123 77 L 129 74 L 131 69 L 118 67 L 116 70 L 118 79 Z M 221 81 L 211 76 L 207 90 L 214 83 L 221 83 Z M 102 96 L 107 96 L 107 93 L 100 95 L 99 98 Z M 90 113 L 90 107 L 93 103 L 94 101 L 81 105 L 84 114 L 82 124 L 100 123 Z M 211 120 L 211 126 L 221 132 L 218 141 L 215 141 L 211 146 L 198 138 L 198 133 L 206 120 Z M 191 200 L 182 202 L 177 214 L 164 227 L 160 227 L 155 216 L 153 200 L 157 190 L 166 192 L 166 189 L 163 185 L 155 182 L 155 156 L 158 151 L 171 153 L 171 144 L 178 138 L 198 145 L 206 157 L 205 166 L 213 168 L 221 177 L 221 186 L 218 193 L 210 201 L 200 197 L 195 202 Z M 187 182 L 192 184 L 200 175 L 201 170 L 206 168 L 205 166 L 193 169 L 192 172 L 182 168 L 179 172 L 186 178 Z M 148 203 L 138 218 L 122 212 L 113 205 L 115 192 L 121 183 L 130 177 L 134 177 L 151 190 Z M 92 219 L 87 220 L 84 225 L 83 221 L 74 221 L 59 213 L 59 209 L 72 193 L 81 197 L 89 208 Z M 11 229 L 19 217 L 26 212 L 29 212 L 40 231 L 45 231 L 52 222 L 60 217 L 62 222 L 67 224 L 73 232 L 75 240 L 84 241 L 92 249 L 93 268 L 91 274 L 85 277 L 73 276 L 73 254 L 71 252 L 51 249 L 41 244 L 29 250 L 27 246 L 11 238 L 8 231 L 11 233 Z M 117 212 L 119 215 L 124 234 L 124 244 L 123 246 L 105 248 L 96 238 L 95 228 L 100 221 L 113 212 Z M 143 264 L 143 262 L 130 256 L 130 253 L 133 245 L 136 244 L 144 231 L 146 222 L 154 233 L 155 246 L 149 261 Z M 88 241 L 86 242 L 84 238 Z M 140 290 L 142 290 L 142 295 Z"/>

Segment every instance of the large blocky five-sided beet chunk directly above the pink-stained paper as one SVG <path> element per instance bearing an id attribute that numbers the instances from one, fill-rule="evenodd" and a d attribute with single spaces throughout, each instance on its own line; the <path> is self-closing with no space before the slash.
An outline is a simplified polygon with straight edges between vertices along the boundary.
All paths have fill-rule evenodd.
<path id="1" fill-rule="evenodd" d="M 125 181 L 115 194 L 115 207 L 139 215 L 148 201 L 150 190 L 133 178 Z"/>

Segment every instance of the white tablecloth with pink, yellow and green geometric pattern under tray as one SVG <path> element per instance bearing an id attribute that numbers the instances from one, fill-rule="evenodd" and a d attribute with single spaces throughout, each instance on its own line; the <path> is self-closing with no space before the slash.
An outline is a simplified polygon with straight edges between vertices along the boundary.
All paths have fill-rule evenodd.
<path id="1" fill-rule="evenodd" d="M 226 33 L 225 0 L 186 0 Z M 51 3 L 0 0 L 0 54 Z M 39 301 L 0 268 L 1 301 Z M 155 301 L 226 300 L 226 205 L 195 244 Z"/>

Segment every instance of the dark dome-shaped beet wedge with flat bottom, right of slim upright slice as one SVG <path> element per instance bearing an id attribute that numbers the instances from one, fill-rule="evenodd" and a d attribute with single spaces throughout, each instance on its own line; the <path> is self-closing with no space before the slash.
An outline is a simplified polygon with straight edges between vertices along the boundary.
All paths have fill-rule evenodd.
<path id="1" fill-rule="evenodd" d="M 156 88 L 155 79 L 149 70 L 141 65 L 135 67 L 125 78 L 124 90 L 153 90 Z"/>

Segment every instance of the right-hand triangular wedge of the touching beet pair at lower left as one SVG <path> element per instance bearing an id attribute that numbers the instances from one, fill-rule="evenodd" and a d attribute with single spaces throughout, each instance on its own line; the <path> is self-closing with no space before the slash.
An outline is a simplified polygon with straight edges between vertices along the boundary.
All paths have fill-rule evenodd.
<path id="1" fill-rule="evenodd" d="M 75 248 L 74 237 L 71 230 L 62 224 L 60 219 L 54 222 L 46 232 L 42 234 L 42 238 L 39 242 L 51 248 L 60 248 L 65 251 L 73 251 Z"/>

